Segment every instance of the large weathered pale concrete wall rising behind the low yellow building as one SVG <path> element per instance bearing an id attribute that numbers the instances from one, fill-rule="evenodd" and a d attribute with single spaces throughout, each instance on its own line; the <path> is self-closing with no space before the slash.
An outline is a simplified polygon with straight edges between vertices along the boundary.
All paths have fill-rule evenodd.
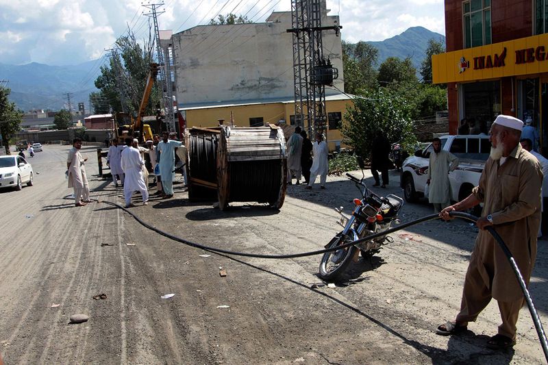
<path id="1" fill-rule="evenodd" d="M 339 25 L 322 2 L 322 26 Z M 179 108 L 290 98 L 293 86 L 291 12 L 273 12 L 265 23 L 199 25 L 173 34 L 174 94 Z M 162 40 L 162 45 L 166 45 Z M 340 35 L 323 32 L 323 54 L 338 68 L 344 90 Z M 325 95 L 339 94 L 325 88 Z"/>

